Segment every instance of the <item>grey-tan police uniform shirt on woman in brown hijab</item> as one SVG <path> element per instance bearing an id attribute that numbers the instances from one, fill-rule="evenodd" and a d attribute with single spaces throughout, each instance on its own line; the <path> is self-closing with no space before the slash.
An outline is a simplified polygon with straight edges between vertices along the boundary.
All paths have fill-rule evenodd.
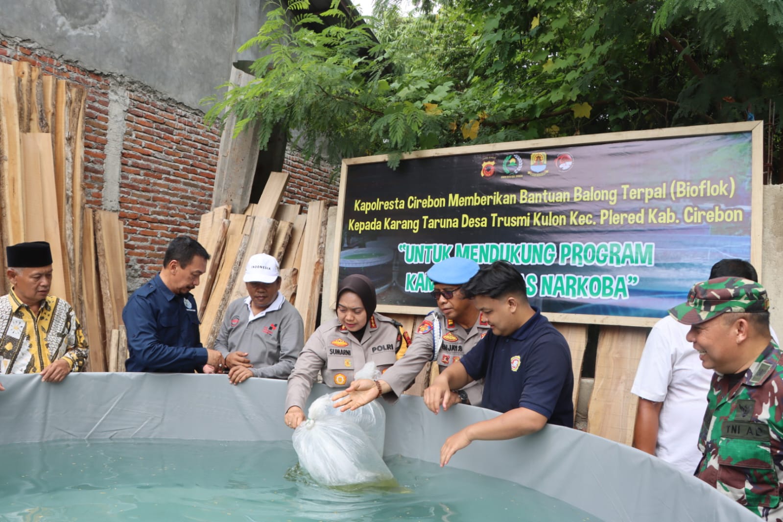
<path id="1" fill-rule="evenodd" d="M 378 313 L 370 315 L 361 341 L 356 340 L 337 319 L 319 326 L 305 343 L 294 371 L 288 377 L 285 411 L 291 406 L 305 409 L 312 383 L 316 381 L 319 371 L 323 383 L 328 387 L 347 388 L 354 380 L 354 372 L 370 361 L 375 362 L 384 373 L 381 379 L 399 396 L 424 366 L 424 362 L 421 362 L 419 369 L 413 373 L 410 362 L 402 363 L 407 355 L 398 362 L 397 351 L 401 343 L 399 322 Z M 395 363 L 400 364 L 400 367 L 392 371 Z M 410 377 L 410 373 L 413 373 L 413 377 Z"/>

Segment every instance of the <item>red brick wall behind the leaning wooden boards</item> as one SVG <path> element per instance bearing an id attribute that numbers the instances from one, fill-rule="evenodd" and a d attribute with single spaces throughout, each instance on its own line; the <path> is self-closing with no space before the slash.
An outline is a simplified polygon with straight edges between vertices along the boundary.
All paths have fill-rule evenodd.
<path id="1" fill-rule="evenodd" d="M 171 239 L 197 236 L 200 216 L 211 208 L 219 129 L 207 127 L 200 110 L 31 41 L 0 34 L 0 61 L 26 61 L 87 89 L 85 204 L 119 212 L 128 290 L 135 290 L 160 270 Z M 301 203 L 303 211 L 311 200 L 337 203 L 339 179 L 330 183 L 330 165 L 316 167 L 288 149 L 283 169 L 290 172 L 283 201 Z M 107 200 L 108 193 L 116 197 Z"/>

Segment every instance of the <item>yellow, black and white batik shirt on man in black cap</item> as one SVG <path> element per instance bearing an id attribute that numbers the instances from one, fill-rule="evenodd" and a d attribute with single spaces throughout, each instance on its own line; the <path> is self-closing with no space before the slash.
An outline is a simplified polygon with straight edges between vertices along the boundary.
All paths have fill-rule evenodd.
<path id="1" fill-rule="evenodd" d="M 46 297 L 36 316 L 13 290 L 0 297 L 0 373 L 40 373 L 60 358 L 79 372 L 87 354 L 81 325 L 67 302 Z"/>

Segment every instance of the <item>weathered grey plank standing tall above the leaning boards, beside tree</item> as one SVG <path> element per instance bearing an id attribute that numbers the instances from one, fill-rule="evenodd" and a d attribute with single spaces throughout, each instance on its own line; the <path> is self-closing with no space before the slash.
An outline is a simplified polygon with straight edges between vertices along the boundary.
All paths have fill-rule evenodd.
<path id="1" fill-rule="evenodd" d="M 231 69 L 229 81 L 232 85 L 247 85 L 254 79 L 252 74 L 236 67 Z M 226 118 L 220 137 L 212 207 L 230 204 L 236 211 L 242 211 L 249 203 L 258 166 L 258 124 L 248 124 L 236 138 L 233 137 L 234 127 L 236 116 L 232 113 Z M 272 216 L 268 214 L 266 217 Z"/>

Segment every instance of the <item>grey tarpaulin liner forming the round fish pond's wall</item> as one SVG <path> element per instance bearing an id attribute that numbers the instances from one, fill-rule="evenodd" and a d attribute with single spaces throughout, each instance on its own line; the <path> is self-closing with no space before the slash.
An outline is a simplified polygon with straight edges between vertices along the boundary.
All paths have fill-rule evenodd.
<path id="1" fill-rule="evenodd" d="M 74 373 L 57 384 L 38 375 L 3 375 L 0 441 L 178 438 L 290 441 L 283 424 L 286 383 L 226 376 Z M 311 399 L 327 391 L 316 386 Z M 384 402 L 384 401 L 381 401 Z M 498 415 L 457 405 L 433 415 L 421 398 L 386 409 L 385 455 L 437 463 L 446 437 Z M 606 522 L 760 520 L 747 509 L 636 449 L 577 430 L 547 426 L 511 441 L 476 441 L 449 466 L 514 481 Z M 0 476 L 8 473 L 2 469 Z"/>

